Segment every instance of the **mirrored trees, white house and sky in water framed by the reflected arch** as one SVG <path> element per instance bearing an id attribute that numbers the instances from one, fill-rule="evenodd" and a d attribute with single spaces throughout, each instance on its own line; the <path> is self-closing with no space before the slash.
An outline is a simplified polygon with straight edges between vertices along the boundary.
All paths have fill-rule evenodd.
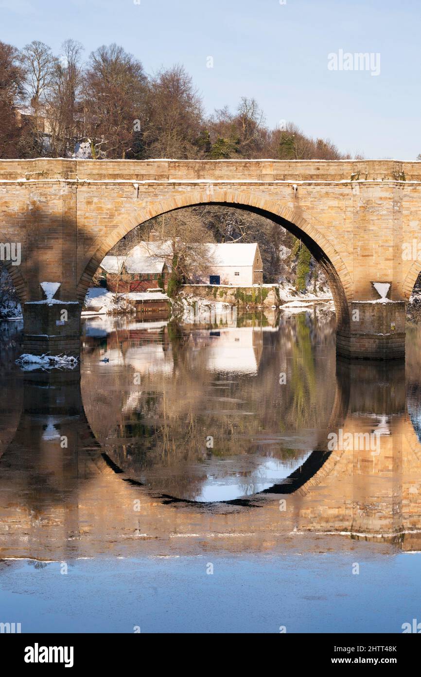
<path id="1" fill-rule="evenodd" d="M 200 502 L 286 480 L 328 425 L 335 391 L 319 393 L 335 378 L 335 355 L 318 348 L 314 318 L 279 320 L 87 322 L 84 408 L 113 462 L 142 485 Z M 330 321 L 324 331 L 332 339 Z"/>

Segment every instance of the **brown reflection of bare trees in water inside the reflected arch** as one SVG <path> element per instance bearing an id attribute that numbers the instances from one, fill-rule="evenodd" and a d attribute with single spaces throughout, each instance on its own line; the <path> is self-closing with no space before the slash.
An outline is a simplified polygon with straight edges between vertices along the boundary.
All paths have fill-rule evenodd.
<path id="1" fill-rule="evenodd" d="M 209 473 L 223 478 L 232 472 L 224 461 L 233 456 L 247 457 L 237 478 L 245 491 L 258 476 L 262 456 L 290 460 L 291 466 L 303 457 L 315 440 L 304 443 L 301 431 L 327 424 L 335 395 L 324 390 L 335 380 L 333 325 L 324 328 L 326 336 L 330 332 L 330 351 L 320 351 L 319 334 L 314 332 L 317 341 L 312 337 L 314 318 L 307 326 L 305 315 L 297 315 L 278 330 L 262 331 L 266 322 L 251 315 L 239 320 L 241 332 L 250 328 L 259 364 L 254 375 L 213 370 L 209 349 L 218 346 L 219 337 L 174 322 L 162 338 L 166 368 L 151 364 L 140 386 L 131 385 L 129 362 L 110 372 L 105 383 L 103 372 L 99 377 L 91 369 L 86 387 L 82 381 L 84 406 L 114 462 L 158 491 L 194 499 Z M 139 355 L 142 349 L 139 345 Z M 89 370 L 97 358 L 94 353 L 85 359 Z M 287 384 L 280 385 L 284 371 Z M 323 397 L 317 395 L 321 392 Z M 297 433 L 301 441 L 295 445 L 289 435 L 294 439 Z M 209 436 L 213 448 L 207 448 Z"/>

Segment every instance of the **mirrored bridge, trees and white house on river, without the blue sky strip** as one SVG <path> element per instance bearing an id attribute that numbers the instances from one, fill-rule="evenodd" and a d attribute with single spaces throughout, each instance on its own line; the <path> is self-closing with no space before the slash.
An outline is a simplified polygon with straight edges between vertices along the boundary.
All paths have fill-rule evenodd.
<path id="1" fill-rule="evenodd" d="M 418 330 L 406 384 L 400 363 L 337 362 L 333 318 L 316 312 L 89 320 L 80 382 L 20 372 L 19 328 L 2 337 L 2 556 L 179 551 L 211 536 L 262 549 L 302 532 L 421 549 Z M 330 451 L 341 429 L 376 431 L 380 453 Z"/>

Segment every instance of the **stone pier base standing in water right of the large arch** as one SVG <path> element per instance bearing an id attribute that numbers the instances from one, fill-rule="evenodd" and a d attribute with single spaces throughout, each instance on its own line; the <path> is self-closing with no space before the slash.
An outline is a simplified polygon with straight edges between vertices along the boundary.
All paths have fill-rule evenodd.
<path id="1" fill-rule="evenodd" d="M 405 357 L 404 301 L 351 301 L 349 327 L 337 331 L 337 354 L 351 359 Z"/>

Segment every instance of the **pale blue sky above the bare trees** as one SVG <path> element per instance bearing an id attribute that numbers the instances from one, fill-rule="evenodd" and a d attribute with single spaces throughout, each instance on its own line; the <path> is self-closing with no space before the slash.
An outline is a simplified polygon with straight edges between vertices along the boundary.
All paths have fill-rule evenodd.
<path id="1" fill-rule="evenodd" d="M 255 97 L 270 127 L 368 159 L 421 153 L 420 28 L 420 0 L 0 0 L 3 42 L 115 42 L 149 73 L 183 64 L 209 113 Z"/>

